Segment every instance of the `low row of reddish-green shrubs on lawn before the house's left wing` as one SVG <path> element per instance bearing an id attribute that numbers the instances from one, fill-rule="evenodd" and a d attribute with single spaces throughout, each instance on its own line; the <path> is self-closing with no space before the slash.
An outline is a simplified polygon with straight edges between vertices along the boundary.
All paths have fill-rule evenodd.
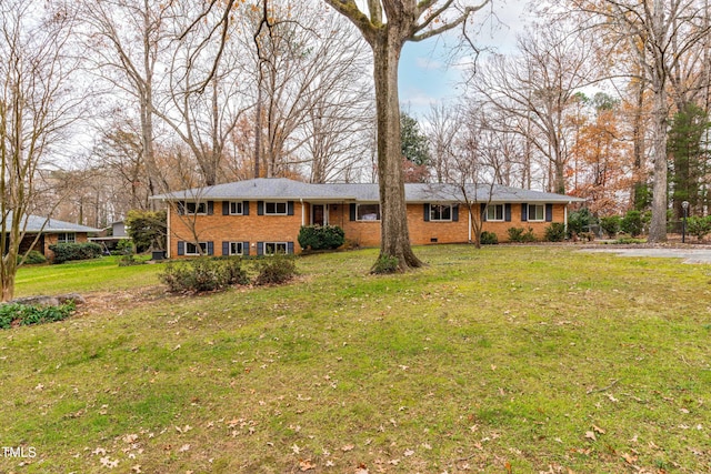
<path id="1" fill-rule="evenodd" d="M 232 285 L 281 284 L 297 274 L 293 255 L 278 254 L 252 260 L 257 275 L 250 280 L 239 258 L 201 258 L 184 262 L 168 262 L 158 275 L 173 293 L 192 293 L 224 290 Z"/>

